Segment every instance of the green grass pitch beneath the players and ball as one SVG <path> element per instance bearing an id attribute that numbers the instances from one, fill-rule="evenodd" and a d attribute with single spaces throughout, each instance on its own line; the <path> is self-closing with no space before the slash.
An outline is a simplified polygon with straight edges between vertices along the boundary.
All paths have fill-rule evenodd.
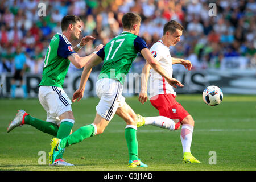
<path id="1" fill-rule="evenodd" d="M 64 158 L 73 167 L 42 164 L 48 159 L 52 136 L 25 125 L 6 133 L 16 111 L 23 109 L 33 117 L 46 119 L 39 101 L 0 100 L 0 171 L 2 170 L 87 170 L 87 171 L 254 171 L 256 169 L 256 96 L 225 96 L 218 106 L 204 104 L 201 95 L 179 95 L 177 101 L 195 119 L 192 154 L 201 164 L 183 164 L 180 130 L 168 131 L 155 126 L 138 128 L 139 158 L 148 168 L 127 167 L 125 122 L 117 115 L 101 135 L 66 148 Z M 126 98 L 136 113 L 150 117 L 158 111 L 150 102 L 142 105 L 138 97 Z M 86 98 L 72 105 L 73 131 L 93 122 L 97 98 Z M 213 155 L 212 152 L 216 155 Z M 216 157 L 216 164 L 213 157 Z M 210 163 L 209 163 L 210 162 Z"/>

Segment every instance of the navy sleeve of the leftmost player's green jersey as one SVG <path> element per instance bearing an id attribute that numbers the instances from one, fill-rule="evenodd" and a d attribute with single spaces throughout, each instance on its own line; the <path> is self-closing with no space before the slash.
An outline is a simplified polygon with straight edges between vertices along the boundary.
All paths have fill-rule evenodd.
<path id="1" fill-rule="evenodd" d="M 62 36 L 60 36 L 60 42 L 59 42 L 59 47 L 58 47 L 58 56 L 63 57 L 64 59 L 67 59 L 69 55 L 72 53 L 76 53 L 69 43 L 69 41 Z"/>

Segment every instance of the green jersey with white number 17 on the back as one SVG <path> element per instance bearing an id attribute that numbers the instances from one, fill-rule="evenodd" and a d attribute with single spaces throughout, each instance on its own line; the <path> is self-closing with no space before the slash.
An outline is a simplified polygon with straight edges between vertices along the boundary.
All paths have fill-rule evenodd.
<path id="1" fill-rule="evenodd" d="M 130 32 L 122 32 L 106 44 L 97 55 L 104 60 L 98 79 L 111 78 L 123 84 L 137 53 L 147 48 L 146 42 Z"/>

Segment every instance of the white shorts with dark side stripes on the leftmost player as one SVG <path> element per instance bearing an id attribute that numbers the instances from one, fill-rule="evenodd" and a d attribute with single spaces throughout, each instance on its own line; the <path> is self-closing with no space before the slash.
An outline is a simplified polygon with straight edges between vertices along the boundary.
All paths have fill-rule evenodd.
<path id="1" fill-rule="evenodd" d="M 59 116 L 66 111 L 72 111 L 72 102 L 60 87 L 40 86 L 38 98 L 44 110 L 46 110 L 47 122 L 59 125 Z"/>

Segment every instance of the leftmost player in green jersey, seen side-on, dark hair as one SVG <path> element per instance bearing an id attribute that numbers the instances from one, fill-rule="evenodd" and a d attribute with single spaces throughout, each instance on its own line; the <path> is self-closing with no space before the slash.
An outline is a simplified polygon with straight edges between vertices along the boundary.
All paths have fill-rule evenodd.
<path id="1" fill-rule="evenodd" d="M 42 81 L 39 84 L 39 101 L 47 113 L 46 121 L 31 117 L 24 110 L 19 110 L 18 114 L 11 122 L 7 132 L 17 126 L 28 124 L 45 133 L 57 138 L 67 137 L 72 132 L 75 122 L 73 117 L 71 100 L 63 90 L 63 82 L 67 75 L 70 62 L 76 68 L 84 67 L 86 61 L 90 59 L 103 45 L 97 46 L 94 53 L 80 57 L 76 52 L 82 46 L 93 40 L 92 36 L 86 36 L 74 48 L 71 43 L 79 39 L 81 34 L 81 20 L 76 15 L 67 15 L 61 20 L 62 34 L 57 33 L 51 39 L 44 60 Z M 71 165 L 64 162 L 62 156 L 57 156 L 55 165 Z"/>

